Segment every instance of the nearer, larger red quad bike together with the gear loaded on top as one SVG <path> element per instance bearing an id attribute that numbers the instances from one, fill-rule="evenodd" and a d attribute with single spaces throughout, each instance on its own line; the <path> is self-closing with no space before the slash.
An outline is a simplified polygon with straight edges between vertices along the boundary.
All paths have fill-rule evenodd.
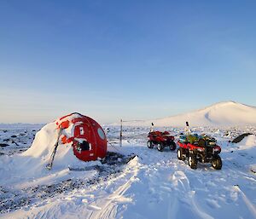
<path id="1" fill-rule="evenodd" d="M 180 160 L 189 160 L 191 169 L 197 168 L 197 163 L 212 163 L 215 170 L 221 170 L 222 160 L 218 153 L 221 147 L 216 145 L 216 140 L 207 135 L 181 135 L 177 141 L 177 158 Z"/>

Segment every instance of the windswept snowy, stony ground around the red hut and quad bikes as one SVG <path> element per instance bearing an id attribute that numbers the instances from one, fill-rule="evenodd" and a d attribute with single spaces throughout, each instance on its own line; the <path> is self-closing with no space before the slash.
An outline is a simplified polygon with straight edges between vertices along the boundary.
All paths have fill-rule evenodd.
<path id="1" fill-rule="evenodd" d="M 119 127 L 105 130 L 108 151 L 137 157 L 110 168 L 102 164 L 100 170 L 70 171 L 67 153 L 57 151 L 63 163 L 49 171 L 42 168 L 47 158 L 33 146 L 24 154 L 0 156 L 0 218 L 256 218 L 255 127 L 192 128 L 217 138 L 222 170 L 211 164 L 191 170 L 168 148 L 148 149 L 149 127 L 125 127 L 123 147 Z M 176 137 L 183 131 L 167 130 Z M 244 132 L 254 135 L 229 142 Z"/>

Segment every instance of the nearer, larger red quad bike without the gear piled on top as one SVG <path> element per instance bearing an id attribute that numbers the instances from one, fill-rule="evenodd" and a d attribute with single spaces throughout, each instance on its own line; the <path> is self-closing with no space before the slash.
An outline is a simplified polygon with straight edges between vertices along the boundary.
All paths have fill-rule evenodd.
<path id="1" fill-rule="evenodd" d="M 177 141 L 179 148 L 177 149 L 177 158 L 180 160 L 189 159 L 191 169 L 197 168 L 197 162 L 212 163 L 215 170 L 221 170 L 222 161 L 218 153 L 221 152 L 221 147 L 218 145 L 209 145 L 207 141 L 202 139 L 193 144 L 189 142 Z"/>

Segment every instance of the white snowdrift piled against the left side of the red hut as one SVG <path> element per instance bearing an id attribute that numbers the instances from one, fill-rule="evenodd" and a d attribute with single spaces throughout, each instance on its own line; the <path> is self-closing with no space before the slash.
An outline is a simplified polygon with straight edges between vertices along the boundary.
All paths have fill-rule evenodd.
<path id="1" fill-rule="evenodd" d="M 71 129 L 62 131 L 67 136 L 71 134 Z M 20 184 L 26 182 L 29 178 L 39 179 L 44 176 L 55 175 L 55 173 L 58 173 L 60 177 L 62 175 L 67 176 L 69 166 L 83 168 L 90 165 L 101 165 L 100 161 L 84 162 L 79 160 L 73 154 L 72 143 L 63 145 L 60 140 L 52 170 L 47 170 L 46 165 L 49 164 L 50 156 L 54 151 L 57 136 L 58 130 L 55 122 L 46 124 L 38 131 L 32 146 L 26 152 L 12 157 L 2 156 L 2 159 L 0 159 L 0 175 L 6 176 L 9 183 L 17 182 Z"/>

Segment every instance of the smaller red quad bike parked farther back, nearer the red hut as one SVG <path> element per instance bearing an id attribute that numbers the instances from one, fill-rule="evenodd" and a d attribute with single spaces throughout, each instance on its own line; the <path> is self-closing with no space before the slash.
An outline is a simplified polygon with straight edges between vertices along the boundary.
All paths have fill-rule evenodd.
<path id="1" fill-rule="evenodd" d="M 171 151 L 176 149 L 174 136 L 170 135 L 168 131 L 152 131 L 148 133 L 148 148 L 152 149 L 155 145 L 160 152 L 165 147 L 169 147 Z"/>

